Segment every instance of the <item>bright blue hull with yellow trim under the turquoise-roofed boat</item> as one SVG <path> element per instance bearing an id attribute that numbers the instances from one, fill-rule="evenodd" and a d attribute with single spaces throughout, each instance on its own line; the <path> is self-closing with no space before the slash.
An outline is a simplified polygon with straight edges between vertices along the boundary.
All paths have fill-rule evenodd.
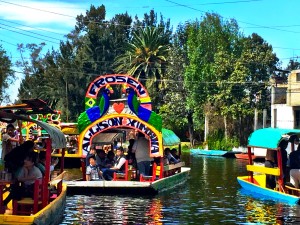
<path id="1" fill-rule="evenodd" d="M 266 199 L 287 202 L 289 204 L 299 204 L 299 197 L 266 188 L 264 184 L 265 175 L 255 175 L 253 177 L 255 183 L 249 181 L 249 176 L 240 176 L 237 177 L 237 180 L 242 188 L 250 194 L 262 195 Z"/>

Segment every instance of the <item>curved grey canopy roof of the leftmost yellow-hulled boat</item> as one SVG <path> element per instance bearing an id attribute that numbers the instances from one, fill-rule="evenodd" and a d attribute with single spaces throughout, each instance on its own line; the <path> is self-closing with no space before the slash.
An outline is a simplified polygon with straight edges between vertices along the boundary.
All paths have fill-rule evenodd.
<path id="1" fill-rule="evenodd" d="M 29 122 L 36 123 L 38 126 L 42 127 L 44 130 L 47 131 L 47 133 L 49 134 L 49 136 L 52 139 L 52 147 L 53 148 L 56 148 L 56 149 L 65 148 L 67 145 L 65 135 L 58 128 L 56 128 L 55 126 L 52 126 L 48 123 L 38 121 L 38 120 L 33 120 L 26 116 L 9 113 L 4 110 L 0 111 L 0 118 L 1 119 L 23 120 L 23 121 L 29 121 Z"/>

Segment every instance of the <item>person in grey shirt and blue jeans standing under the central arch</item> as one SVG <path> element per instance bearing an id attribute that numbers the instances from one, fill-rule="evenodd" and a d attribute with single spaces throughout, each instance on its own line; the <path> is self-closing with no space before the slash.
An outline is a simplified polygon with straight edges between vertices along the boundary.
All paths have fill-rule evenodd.
<path id="1" fill-rule="evenodd" d="M 149 156 L 149 141 L 143 133 L 138 133 L 138 139 L 133 144 L 132 152 L 135 153 L 139 173 L 149 176 L 152 158 Z"/>

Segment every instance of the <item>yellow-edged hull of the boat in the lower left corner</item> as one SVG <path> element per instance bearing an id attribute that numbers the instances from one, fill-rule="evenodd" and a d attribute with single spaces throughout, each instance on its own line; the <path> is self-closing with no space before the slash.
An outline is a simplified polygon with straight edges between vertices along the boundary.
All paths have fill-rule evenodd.
<path id="1" fill-rule="evenodd" d="M 56 225 L 60 224 L 66 206 L 67 186 L 63 185 L 61 194 L 45 208 L 32 216 L 0 215 L 0 224 L 9 225 Z"/>

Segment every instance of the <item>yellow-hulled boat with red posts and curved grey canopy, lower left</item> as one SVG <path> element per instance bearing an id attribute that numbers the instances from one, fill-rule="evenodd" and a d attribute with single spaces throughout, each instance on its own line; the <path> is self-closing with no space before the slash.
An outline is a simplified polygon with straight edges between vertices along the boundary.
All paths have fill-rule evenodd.
<path id="1" fill-rule="evenodd" d="M 47 134 L 46 138 L 46 163 L 42 180 L 34 183 L 33 198 L 12 200 L 8 204 L 9 210 L 3 207 L 3 199 L 9 194 L 9 185 L 14 181 L 6 176 L 0 180 L 0 224 L 10 225 L 55 225 L 63 218 L 66 204 L 66 185 L 62 183 L 64 162 L 60 164 L 60 174 L 50 180 L 51 152 L 53 149 L 65 149 L 66 139 L 64 134 L 56 127 L 45 122 L 36 121 L 28 117 L 34 113 L 55 113 L 43 101 L 35 99 L 24 101 L 22 104 L 1 106 L 0 120 L 7 123 L 27 121 L 35 123 Z M 21 124 L 21 123 L 20 123 Z M 3 168 L 2 168 L 3 169 Z M 50 190 L 51 189 L 51 190 Z"/>

